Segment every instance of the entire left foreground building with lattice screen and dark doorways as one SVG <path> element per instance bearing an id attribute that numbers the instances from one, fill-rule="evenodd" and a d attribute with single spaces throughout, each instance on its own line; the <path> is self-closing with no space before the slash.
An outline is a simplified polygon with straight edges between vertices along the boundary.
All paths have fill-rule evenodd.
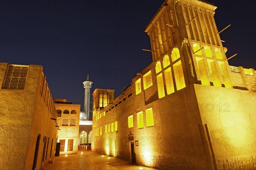
<path id="1" fill-rule="evenodd" d="M 0 72 L 0 169 L 43 169 L 58 129 L 43 67 L 1 62 Z"/>

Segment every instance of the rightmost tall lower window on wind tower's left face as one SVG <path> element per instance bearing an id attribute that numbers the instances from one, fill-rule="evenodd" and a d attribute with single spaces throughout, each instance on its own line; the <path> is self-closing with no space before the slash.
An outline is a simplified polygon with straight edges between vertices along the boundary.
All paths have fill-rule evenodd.
<path id="1" fill-rule="evenodd" d="M 173 71 L 174 71 L 174 77 L 175 77 L 177 90 L 185 88 L 186 84 L 185 84 L 181 61 L 178 61 L 173 65 Z"/>

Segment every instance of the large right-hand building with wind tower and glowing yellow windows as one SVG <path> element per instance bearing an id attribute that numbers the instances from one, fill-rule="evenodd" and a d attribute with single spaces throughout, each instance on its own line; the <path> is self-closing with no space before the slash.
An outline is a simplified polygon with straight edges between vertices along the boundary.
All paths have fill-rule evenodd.
<path id="1" fill-rule="evenodd" d="M 216 8 L 165 1 L 145 29 L 153 62 L 111 102 L 93 93 L 94 152 L 159 169 L 256 168 L 256 72 L 229 65 Z"/>

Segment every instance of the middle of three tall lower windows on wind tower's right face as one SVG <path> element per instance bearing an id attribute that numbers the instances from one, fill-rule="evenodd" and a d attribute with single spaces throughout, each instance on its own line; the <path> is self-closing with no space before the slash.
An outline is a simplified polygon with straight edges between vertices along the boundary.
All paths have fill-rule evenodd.
<path id="1" fill-rule="evenodd" d="M 209 66 L 209 71 L 207 71 L 207 77 L 212 78 L 212 83 L 214 86 L 222 87 L 215 60 L 207 59 L 207 62 Z"/>

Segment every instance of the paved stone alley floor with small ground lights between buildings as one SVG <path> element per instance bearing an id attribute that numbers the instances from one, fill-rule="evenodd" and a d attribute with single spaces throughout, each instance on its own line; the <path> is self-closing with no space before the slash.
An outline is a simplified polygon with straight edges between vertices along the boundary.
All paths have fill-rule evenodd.
<path id="1" fill-rule="evenodd" d="M 101 154 L 92 151 L 79 150 L 78 154 L 55 157 L 54 162 L 48 164 L 44 170 L 141 170 L 141 168 L 142 170 L 156 170 L 129 164 L 125 160 L 111 156 L 102 157 Z"/>

